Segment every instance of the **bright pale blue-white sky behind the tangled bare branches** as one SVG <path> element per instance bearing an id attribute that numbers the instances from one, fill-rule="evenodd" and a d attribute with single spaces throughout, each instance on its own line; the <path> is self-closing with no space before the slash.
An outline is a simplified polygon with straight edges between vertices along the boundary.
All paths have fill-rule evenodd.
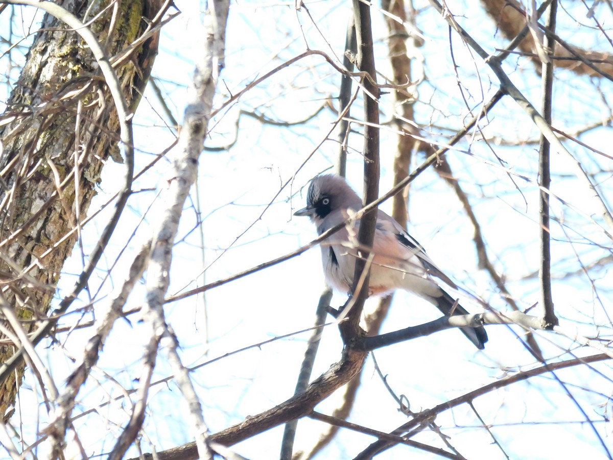
<path id="1" fill-rule="evenodd" d="M 422 8 L 426 4 L 419 2 L 416 7 Z M 159 79 L 158 84 L 166 95 L 170 110 L 180 120 L 200 34 L 195 2 L 177 1 L 177 6 L 183 15 L 163 29 L 153 76 Z M 332 55 L 327 40 L 334 53 L 342 56 L 350 4 L 327 1 L 307 3 L 311 16 L 326 40 L 310 25 L 305 10 L 296 13 L 292 6 L 293 3 L 255 1 L 232 5 L 226 34 L 226 69 L 222 74 L 223 82 L 219 85 L 218 104 L 224 100 L 228 91 L 235 94 L 249 81 L 304 51 L 302 32 L 311 49 Z M 470 27 L 476 39 L 487 43 L 490 47 L 488 51 L 493 53 L 495 46 L 500 47 L 505 43 L 500 34 L 495 40 L 491 39 L 493 23 L 485 18 L 481 10 L 474 7 L 465 9 L 462 2 L 453 2 L 452 6 L 454 12 L 463 12 L 465 18 L 459 20 Z M 568 26 L 565 26 L 568 17 L 563 13 L 560 15 L 565 18 L 561 19 L 563 36 L 572 38 Z M 4 15 L 2 18 L 4 20 Z M 298 20 L 303 25 L 302 32 Z M 432 13 L 424 14 L 423 21 L 419 26 L 428 40 L 417 51 L 425 56 L 427 81 L 418 88 L 421 103 L 416 105 L 416 120 L 424 126 L 432 123 L 429 132 L 424 134 L 445 142 L 470 115 L 467 115 L 468 110 L 459 94 L 449 59 L 447 28 Z M 480 22 L 487 26 L 478 31 L 475 25 Z M 387 32 L 379 13 L 373 12 L 373 23 L 378 69 L 382 74 L 389 75 L 384 42 Z M 489 100 L 498 88 L 497 81 L 485 69 L 481 59 L 474 58 L 473 62 L 457 37 L 454 37 L 454 56 L 457 62 L 465 62 L 459 69 L 462 84 L 471 108 L 479 110 L 479 104 Z M 521 61 L 517 67 L 516 64 L 516 58 L 509 58 L 506 69 L 514 83 L 538 105 L 540 83 L 534 67 L 525 61 Z M 479 69 L 481 80 L 474 78 L 475 69 Z M 379 81 L 382 80 L 379 76 Z M 561 83 L 556 87 L 560 99 L 555 106 L 559 116 L 558 112 L 554 116 L 558 127 L 570 130 L 573 126 L 580 126 L 584 120 L 598 121 L 603 116 L 609 116 L 606 105 L 596 97 L 597 91 L 588 81 L 575 83 L 577 78 L 564 72 L 560 80 Z M 339 83 L 339 75 L 324 59 L 319 56 L 305 58 L 246 94 L 237 105 L 224 112 L 224 116 L 220 114 L 211 121 L 207 146 L 223 146 L 234 140 L 239 110 L 256 110 L 268 118 L 297 121 L 318 110 L 326 97 L 336 96 Z M 611 85 L 604 85 L 600 91 L 610 100 Z M 562 100 L 563 93 L 568 94 L 565 102 Z M 4 94 L 1 96 L 2 100 L 6 97 Z M 153 110 L 162 113 L 151 89 L 147 90 L 145 96 L 147 100 L 143 100 L 135 118 L 137 171 L 148 164 L 154 154 L 167 148 L 173 139 L 172 132 L 164 127 Z M 587 104 L 588 100 L 592 100 L 593 104 Z M 388 121 L 393 110 L 392 95 L 384 96 L 381 100 L 381 121 Z M 356 104 L 351 116 L 362 117 L 361 104 Z M 335 118 L 332 111 L 325 109 L 311 123 L 277 127 L 262 126 L 253 118 L 243 115 L 240 118 L 237 141 L 229 151 L 205 151 L 202 154 L 198 189 L 192 190 L 186 203 L 173 253 L 169 294 L 201 285 L 204 266 L 208 266 L 222 253 L 219 260 L 206 271 L 206 282 L 216 281 L 291 252 L 316 236 L 308 219 L 292 217 L 292 213 L 305 203 L 305 193 L 300 194 L 300 187 L 305 186 L 312 176 L 333 165 L 338 151 L 335 142 L 337 132 L 313 154 L 305 167 L 296 174 L 292 187 L 281 192 L 273 205 L 265 211 L 261 221 L 256 222 L 253 228 L 238 239 L 232 249 L 224 252 L 260 216 L 264 206 L 278 192 L 280 183 L 296 173 L 300 164 L 325 137 Z M 488 123 L 483 122 L 482 126 L 488 137 L 500 135 L 507 142 L 533 139 L 538 135 L 531 121 L 511 100 L 501 102 Z M 354 126 L 354 129 L 360 130 L 359 126 Z M 582 140 L 596 149 L 610 153 L 611 149 L 606 143 L 610 134 L 610 128 L 594 130 Z M 462 143 L 458 146 L 459 151 L 452 151 L 447 157 L 478 214 L 490 258 L 498 272 L 504 274 L 507 287 L 520 308 L 525 309 L 539 300 L 538 278 L 528 277 L 538 270 L 538 224 L 535 221 L 538 216 L 538 189 L 535 186 L 538 145 L 500 146 L 492 140 L 491 145 L 503 162 L 500 165 L 485 142 L 479 140 L 478 133 L 474 135 L 476 139 L 471 144 L 470 154 L 467 153 L 468 144 Z M 392 184 L 392 160 L 396 144 L 394 132 L 382 129 L 381 142 L 380 192 L 383 193 Z M 359 149 L 362 139 L 359 134 L 352 134 L 350 145 L 348 178 L 361 193 L 362 157 Z M 579 146 L 566 145 L 571 153 L 584 161 L 587 170 L 593 172 L 597 167 L 606 165 L 606 161 L 611 169 L 610 160 L 588 154 Z M 422 160 L 422 155 L 417 156 L 413 160 L 413 167 Z M 552 192 L 584 213 L 580 214 L 572 206 L 552 200 L 553 213 L 564 222 L 567 233 L 565 235 L 560 225 L 552 225 L 555 306 L 561 323 L 569 330 L 578 329 L 581 334 L 594 336 L 597 333 L 594 323 L 603 324 L 607 320 L 590 281 L 581 275 L 565 279 L 559 279 L 559 276 L 581 270 L 574 251 L 582 255 L 582 262 L 588 264 L 610 254 L 611 241 L 603 238 L 598 225 L 593 224 L 592 219 L 600 221 L 594 216 L 595 210 L 590 207 L 589 197 L 558 156 L 552 157 L 552 169 L 556 174 L 564 175 L 562 179 L 555 179 Z M 144 191 L 130 199 L 121 226 L 99 264 L 99 271 L 91 280 L 90 292 L 96 292 L 97 285 L 106 274 L 105 270 L 115 262 L 116 255 L 127 244 L 128 249 L 113 269 L 113 281 L 105 282 L 102 293 L 109 293 L 110 288 L 123 279 L 131 257 L 148 236 L 148 222 L 156 218 L 155 214 L 147 214 L 135 237 L 128 243 L 143 213 L 156 200 L 156 190 L 146 189 L 155 189 L 166 179 L 166 173 L 167 160 L 162 159 L 151 173 L 135 183 L 134 189 Z M 514 183 L 508 173 L 514 177 Z M 120 186 L 118 178 L 122 175 L 122 165 L 109 164 L 105 167 L 100 192 L 90 212 L 115 193 L 116 187 Z M 522 176 L 526 176 L 529 181 L 522 179 Z M 609 204 L 613 203 L 611 180 L 606 181 L 603 176 L 596 179 L 601 182 L 604 197 L 609 200 Z M 194 203 L 198 193 L 200 213 L 207 217 L 202 230 L 196 228 L 196 231 L 192 231 L 196 223 Z M 476 254 L 471 240 L 473 228 L 452 190 L 433 170 L 428 170 L 413 183 L 410 193 L 411 235 L 426 247 L 430 257 L 455 282 L 481 296 L 492 307 L 506 311 L 508 306 L 492 280 L 476 266 Z M 389 211 L 389 206 L 390 203 L 384 203 L 381 208 Z M 87 231 L 83 235 L 86 248 L 93 246 L 108 214 L 101 213 L 93 224 L 86 227 Z M 200 231 L 204 235 L 206 248 L 204 261 Z M 595 244 L 588 245 L 590 241 L 600 244 L 600 248 Z M 79 273 L 81 268 L 80 255 L 75 249 L 73 257 L 64 268 L 66 274 L 61 280 L 60 292 L 66 292 L 72 286 L 74 277 L 70 275 Z M 604 309 L 611 312 L 613 276 L 606 269 L 590 273 Z M 208 349 L 204 343 L 202 296 L 169 304 L 166 307 L 167 319 L 183 347 L 183 362 L 189 366 L 200 364 L 207 360 L 204 357 L 207 352 L 208 358 L 215 358 L 272 337 L 309 328 L 313 325 L 314 310 L 323 285 L 319 249 L 314 248 L 300 257 L 210 290 L 206 294 L 210 334 Z M 88 301 L 86 295 L 82 295 L 82 299 L 83 303 L 75 303 L 75 308 Z M 104 303 L 102 294 L 97 299 L 100 300 L 96 307 Z M 140 305 L 142 299 L 143 288 L 140 286 L 132 294 L 127 307 Z M 471 312 L 481 311 L 479 305 L 469 298 L 463 297 L 461 301 Z M 345 296 L 337 293 L 332 306 L 338 307 L 344 302 Z M 531 314 L 539 314 L 539 310 L 535 309 Z M 435 319 L 438 315 L 435 307 L 416 296 L 401 292 L 395 296 L 383 330 L 392 331 L 417 325 Z M 65 323 L 72 324 L 78 318 L 78 314 L 70 315 Z M 91 319 L 94 319 L 94 315 L 87 313 L 82 320 Z M 121 393 L 118 386 L 110 383 L 105 372 L 126 388 L 137 385 L 134 379 L 140 374 L 140 358 L 146 341 L 143 334 L 146 334 L 147 328 L 139 322 L 138 314 L 131 315 L 128 320 L 116 323 L 101 355 L 98 369 L 93 372 L 94 379 L 79 395 L 82 407 L 75 409 L 75 415 L 81 409 L 102 404 L 109 396 L 115 397 Z M 519 328 L 489 326 L 487 332 L 490 341 L 484 352 L 474 349 L 459 331 L 444 331 L 378 350 L 375 352 L 376 359 L 383 374 L 387 375 L 387 382 L 397 394 L 405 394 L 411 402 L 411 408 L 418 411 L 500 379 L 507 372 L 536 366 L 516 338 L 515 334 L 522 333 Z M 603 336 L 610 336 L 611 325 L 604 326 L 601 332 Z M 61 382 L 70 372 L 73 366 L 70 357 L 81 355 L 83 344 L 90 334 L 91 328 L 76 330 L 69 336 L 61 334 L 59 339 L 65 347 L 64 351 L 57 345 L 51 349 L 45 348 L 45 345 L 39 346 L 39 352 L 50 363 L 56 382 Z M 564 337 L 552 333 L 536 335 L 547 356 L 563 355 L 563 350 L 575 348 Z M 263 345 L 261 349 L 256 347 L 224 358 L 193 372 L 192 377 L 210 431 L 219 431 L 289 398 L 294 391 L 307 337 L 307 334 L 297 334 L 289 339 Z M 341 348 L 338 329 L 335 326 L 326 328 L 313 379 L 338 360 Z M 595 350 L 582 349 L 576 353 L 587 355 L 595 353 Z M 568 359 L 570 356 L 562 357 Z M 607 398 L 611 393 L 611 369 L 603 364 L 595 364 L 594 367 L 609 377 L 605 378 L 584 366 L 560 371 L 557 375 L 569 382 L 574 397 L 590 417 L 598 419 L 598 414 L 608 411 L 610 418 L 611 402 Z M 154 380 L 164 378 L 169 373 L 167 363 L 159 360 Z M 586 386 L 588 388 L 584 389 Z M 37 383 L 32 374 L 28 373 L 20 398 L 27 442 L 35 439 L 33 430 L 36 428 L 33 423 L 36 413 L 42 426 L 47 417 L 40 399 L 33 398 L 38 394 Z M 317 409 L 331 413 L 337 403 L 335 395 L 322 402 Z M 579 450 L 587 458 L 604 458 L 590 428 L 580 425 L 583 421 L 581 413 L 549 375 L 494 391 L 476 399 L 474 404 L 485 423 L 493 424 L 493 432 L 511 458 L 527 458 L 528 446 L 530 459 L 568 458 L 569 452 Z M 120 431 L 116 424 L 125 423 L 128 417 L 125 411 L 129 412 L 129 409 L 129 405 L 117 403 L 101 409 L 100 415 L 91 415 L 75 422 L 80 436 L 86 441 L 88 454 L 104 453 L 112 447 Z M 187 420 L 186 407 L 177 386 L 173 383 L 154 386 L 150 397 L 150 412 L 145 421 L 148 440 L 143 441 L 143 451 L 151 451 L 149 442 L 159 451 L 191 440 Z M 362 374 L 362 387 L 349 420 L 381 431 L 390 431 L 406 421 L 406 417 L 398 412 L 395 401 L 384 389 L 370 359 Z M 554 424 L 559 421 L 567 423 Z M 80 423 L 85 423 L 86 429 L 81 429 Z M 436 423 L 444 434 L 451 436 L 451 443 L 466 458 L 503 458 L 501 451 L 493 445 L 490 435 L 481 428 L 481 423 L 467 405 L 443 413 L 436 419 Z M 521 423 L 526 424 L 522 426 Z M 601 425 L 596 424 L 601 434 L 610 434 L 610 428 L 604 429 Z M 316 421 L 300 421 L 295 449 L 308 448 L 323 428 L 324 425 Z M 108 433 L 102 442 L 101 432 Z M 278 427 L 233 448 L 252 460 L 278 458 L 282 432 L 283 427 Z M 329 450 L 318 458 L 352 458 L 372 440 L 365 435 L 341 430 Z M 441 445 L 440 439 L 432 432 L 417 435 L 415 440 Z M 134 456 L 137 453 L 133 449 L 130 454 Z M 400 459 L 406 458 L 408 454 L 412 459 L 432 458 L 429 454 L 408 447 L 392 449 L 377 458 Z M 0 452 L 0 458 L 4 458 L 4 455 Z"/>

